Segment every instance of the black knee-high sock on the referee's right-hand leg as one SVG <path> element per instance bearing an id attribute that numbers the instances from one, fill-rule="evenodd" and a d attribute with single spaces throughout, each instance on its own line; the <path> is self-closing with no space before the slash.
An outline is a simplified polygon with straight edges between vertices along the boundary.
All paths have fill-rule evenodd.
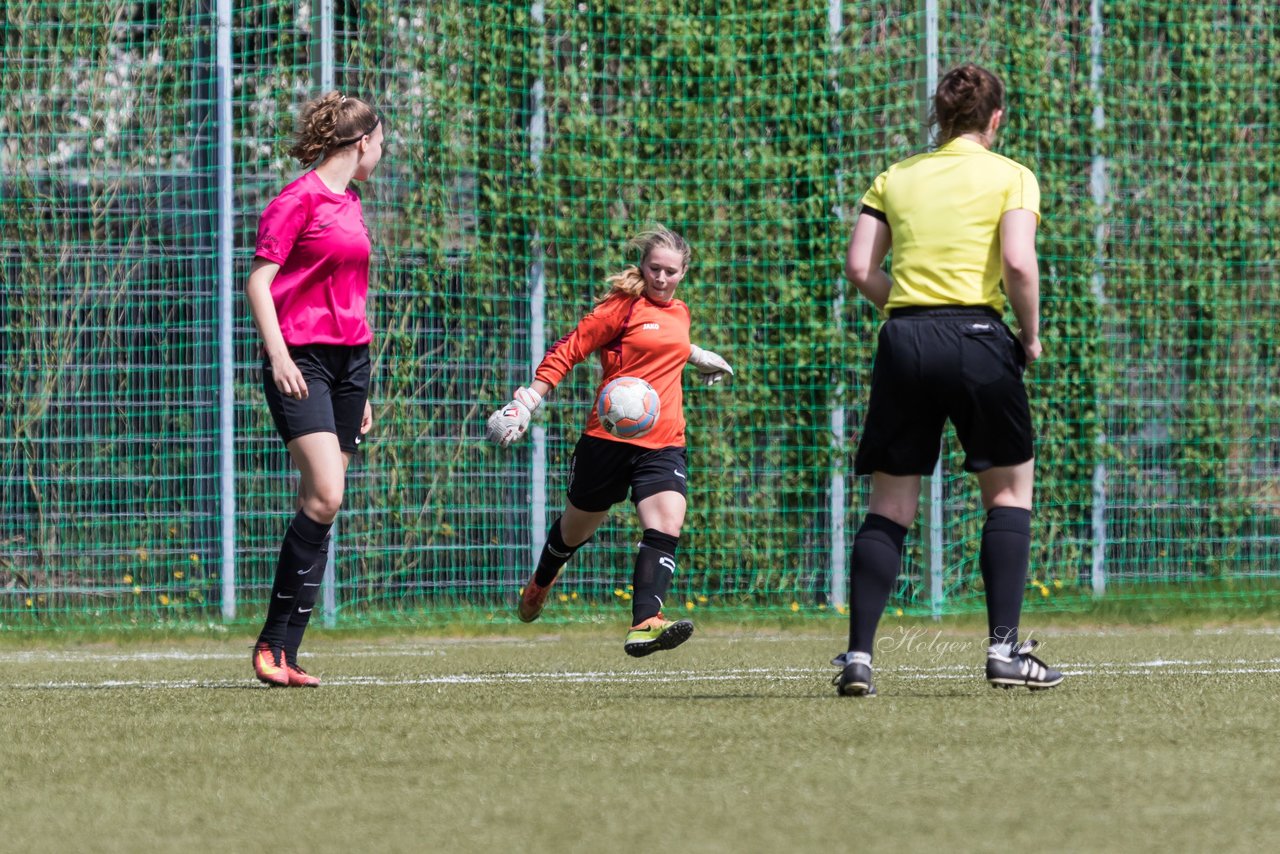
<path id="1" fill-rule="evenodd" d="M 1032 552 L 1032 511 L 992 507 L 982 526 L 978 563 L 987 588 L 989 644 L 1016 644 Z"/>

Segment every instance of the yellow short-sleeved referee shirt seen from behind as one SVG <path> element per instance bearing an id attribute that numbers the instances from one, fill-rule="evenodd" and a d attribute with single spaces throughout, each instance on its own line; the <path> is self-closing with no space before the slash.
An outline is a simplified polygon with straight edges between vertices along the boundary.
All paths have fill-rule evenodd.
<path id="1" fill-rule="evenodd" d="M 1039 220 L 1039 183 L 1027 166 L 955 138 L 896 163 L 863 196 L 863 213 L 888 223 L 893 289 L 884 309 L 991 306 L 1000 288 L 1000 218 L 1025 209 Z"/>

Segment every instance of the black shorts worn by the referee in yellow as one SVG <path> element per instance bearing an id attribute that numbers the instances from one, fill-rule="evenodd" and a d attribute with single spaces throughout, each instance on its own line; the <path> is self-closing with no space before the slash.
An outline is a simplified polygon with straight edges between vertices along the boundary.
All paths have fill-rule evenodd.
<path id="1" fill-rule="evenodd" d="M 879 330 L 870 403 L 854 470 L 933 471 L 947 419 L 966 471 L 1036 456 L 1027 353 L 995 309 L 895 309 Z"/>

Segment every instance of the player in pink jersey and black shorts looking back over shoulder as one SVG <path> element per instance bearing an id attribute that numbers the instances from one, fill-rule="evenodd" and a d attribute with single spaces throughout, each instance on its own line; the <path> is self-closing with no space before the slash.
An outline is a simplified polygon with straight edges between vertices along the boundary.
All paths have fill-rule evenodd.
<path id="1" fill-rule="evenodd" d="M 329 554 L 347 466 L 372 426 L 369 406 L 369 229 L 352 181 L 383 154 L 383 124 L 358 99 L 307 102 L 289 155 L 315 168 L 262 211 L 246 293 L 262 335 L 262 389 L 298 467 L 298 510 L 280 545 L 253 672 L 268 685 L 315 688 L 298 645 Z"/>

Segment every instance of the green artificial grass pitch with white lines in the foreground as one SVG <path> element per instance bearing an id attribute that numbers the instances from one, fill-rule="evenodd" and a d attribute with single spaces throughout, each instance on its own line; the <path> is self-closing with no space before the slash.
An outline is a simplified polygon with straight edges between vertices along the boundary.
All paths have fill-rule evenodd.
<path id="1" fill-rule="evenodd" d="M 980 631 L 836 621 L 0 647 L 6 851 L 1167 851 L 1280 837 L 1280 629 L 1046 622 L 1068 681 L 996 691 Z M 310 652 L 310 654 L 306 654 Z M 1271 840 L 1270 842 L 1267 840 Z"/>

